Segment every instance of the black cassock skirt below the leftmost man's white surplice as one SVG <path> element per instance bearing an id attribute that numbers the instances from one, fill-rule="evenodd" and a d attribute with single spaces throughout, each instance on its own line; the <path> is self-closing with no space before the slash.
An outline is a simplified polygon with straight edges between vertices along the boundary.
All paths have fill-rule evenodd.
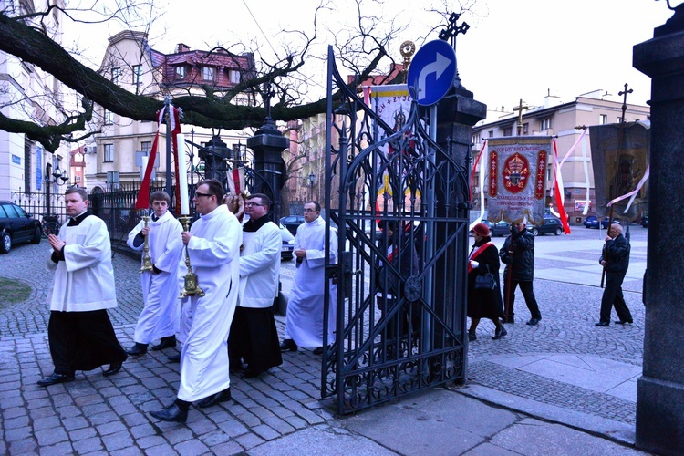
<path id="1" fill-rule="evenodd" d="M 92 370 L 127 358 L 104 309 L 50 312 L 47 338 L 57 374 Z"/>

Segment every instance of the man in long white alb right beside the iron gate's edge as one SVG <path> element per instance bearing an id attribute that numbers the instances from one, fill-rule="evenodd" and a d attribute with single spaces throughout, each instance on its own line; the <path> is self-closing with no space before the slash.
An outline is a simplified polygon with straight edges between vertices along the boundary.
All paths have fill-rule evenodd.
<path id="1" fill-rule="evenodd" d="M 314 354 L 323 353 L 323 316 L 325 287 L 330 286 L 333 300 L 337 285 L 326 282 L 326 222 L 320 218 L 318 202 L 304 205 L 304 223 L 295 235 L 296 272 L 292 294 L 287 304 L 285 338 L 281 350 L 296 351 L 297 347 L 315 347 Z M 337 233 L 330 229 L 330 263 L 337 263 Z M 335 339 L 336 306 L 328 312 L 328 342 Z"/>

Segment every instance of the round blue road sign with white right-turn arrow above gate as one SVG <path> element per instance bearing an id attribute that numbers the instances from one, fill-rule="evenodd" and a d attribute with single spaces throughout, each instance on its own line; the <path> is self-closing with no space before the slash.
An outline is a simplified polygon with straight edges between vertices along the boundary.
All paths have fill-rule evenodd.
<path id="1" fill-rule="evenodd" d="M 407 76 L 409 93 L 420 106 L 444 97 L 456 78 L 456 52 L 446 41 L 430 41 L 413 57 Z"/>

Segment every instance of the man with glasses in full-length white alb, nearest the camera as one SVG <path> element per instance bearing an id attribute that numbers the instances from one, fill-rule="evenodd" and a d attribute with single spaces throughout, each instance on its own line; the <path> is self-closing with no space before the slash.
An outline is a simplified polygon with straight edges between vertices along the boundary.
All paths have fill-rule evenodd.
<path id="1" fill-rule="evenodd" d="M 239 290 L 243 230 L 222 199 L 220 181 L 200 181 L 193 198 L 200 218 L 190 232 L 181 233 L 204 295 L 188 298 L 192 326 L 181 351 L 181 385 L 170 406 L 150 412 L 160 420 L 185 422 L 192 402 L 204 408 L 231 399 L 227 341 Z"/>

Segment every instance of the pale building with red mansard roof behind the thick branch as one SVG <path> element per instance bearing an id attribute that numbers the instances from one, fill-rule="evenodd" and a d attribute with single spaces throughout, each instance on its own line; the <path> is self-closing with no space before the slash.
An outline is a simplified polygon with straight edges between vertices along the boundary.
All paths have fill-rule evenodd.
<path id="1" fill-rule="evenodd" d="M 161 100 L 165 96 L 171 99 L 187 95 L 205 96 L 206 88 L 211 88 L 217 94 L 225 94 L 244 78 L 252 78 L 254 57 L 252 54 L 237 56 L 223 49 L 191 50 L 184 44 L 178 44 L 171 54 L 163 54 L 149 46 L 147 34 L 125 30 L 109 37 L 109 46 L 99 72 L 121 88 L 151 98 Z M 251 101 L 246 94 L 237 93 L 232 102 L 249 104 Z M 88 191 L 97 192 L 116 183 L 140 182 L 146 162 L 144 158 L 149 157 L 158 131 L 156 122 L 123 118 L 98 107 L 93 128 L 101 132 L 94 135 L 94 141 L 86 146 Z M 219 134 L 218 131 L 187 126 L 182 127 L 182 132 L 185 140 L 192 140 L 199 146 L 210 143 Z M 167 170 L 164 124 L 159 134 L 153 180 L 164 185 Z M 242 149 L 250 133 L 231 130 L 221 132 L 221 136 L 230 149 L 223 150 L 228 155 L 235 149 Z M 201 171 L 197 150 L 194 150 L 192 161 L 193 169 Z M 112 181 L 115 175 L 116 182 Z"/>

